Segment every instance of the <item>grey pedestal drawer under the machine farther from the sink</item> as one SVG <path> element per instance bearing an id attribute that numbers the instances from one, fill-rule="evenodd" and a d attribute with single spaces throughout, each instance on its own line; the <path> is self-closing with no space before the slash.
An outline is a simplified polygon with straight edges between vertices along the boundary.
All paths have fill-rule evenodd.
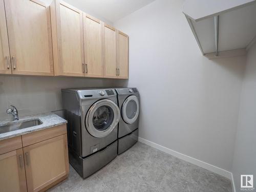
<path id="1" fill-rule="evenodd" d="M 139 129 L 136 129 L 131 134 L 118 139 L 118 155 L 128 150 L 138 141 Z"/>

